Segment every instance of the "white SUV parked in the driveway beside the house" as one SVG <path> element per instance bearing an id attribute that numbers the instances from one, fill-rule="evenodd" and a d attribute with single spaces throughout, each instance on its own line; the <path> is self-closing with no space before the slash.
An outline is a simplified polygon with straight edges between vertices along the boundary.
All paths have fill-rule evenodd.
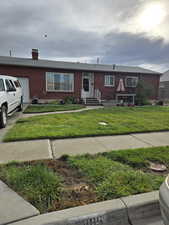
<path id="1" fill-rule="evenodd" d="M 0 128 L 7 124 L 7 116 L 16 109 L 22 111 L 22 88 L 15 77 L 0 75 Z"/>

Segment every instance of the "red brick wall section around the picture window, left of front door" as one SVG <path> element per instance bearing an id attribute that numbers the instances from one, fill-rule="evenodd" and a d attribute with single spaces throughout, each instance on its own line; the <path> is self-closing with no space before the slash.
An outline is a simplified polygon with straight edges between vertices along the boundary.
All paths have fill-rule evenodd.
<path id="1" fill-rule="evenodd" d="M 43 68 L 0 66 L 0 74 L 29 78 L 30 98 L 40 99 L 63 99 L 66 96 L 81 97 L 81 72 L 74 73 L 74 92 L 46 92 L 46 72 L 71 72 L 67 70 L 54 70 Z"/>

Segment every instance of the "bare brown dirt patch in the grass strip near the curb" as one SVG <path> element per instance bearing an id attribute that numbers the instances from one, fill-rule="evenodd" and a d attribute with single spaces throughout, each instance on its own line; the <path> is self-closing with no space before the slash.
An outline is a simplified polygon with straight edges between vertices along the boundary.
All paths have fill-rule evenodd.
<path id="1" fill-rule="evenodd" d="M 97 202 L 94 186 L 87 182 L 77 169 L 71 168 L 65 160 L 47 160 L 43 162 L 48 168 L 61 175 L 64 183 L 61 200 L 55 202 L 49 211 Z"/>

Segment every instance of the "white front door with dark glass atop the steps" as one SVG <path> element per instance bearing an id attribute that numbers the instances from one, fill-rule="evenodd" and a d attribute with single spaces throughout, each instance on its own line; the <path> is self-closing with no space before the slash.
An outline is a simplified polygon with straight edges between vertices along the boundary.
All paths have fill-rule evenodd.
<path id="1" fill-rule="evenodd" d="M 94 97 L 94 74 L 85 72 L 82 75 L 82 98 Z"/>

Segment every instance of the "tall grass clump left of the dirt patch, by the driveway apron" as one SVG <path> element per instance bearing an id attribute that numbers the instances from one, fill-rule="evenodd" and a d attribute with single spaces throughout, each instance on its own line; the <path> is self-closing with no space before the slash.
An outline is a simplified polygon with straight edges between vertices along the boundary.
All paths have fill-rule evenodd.
<path id="1" fill-rule="evenodd" d="M 60 198 L 61 180 L 43 164 L 7 164 L 1 166 L 0 177 L 42 213 Z"/>

